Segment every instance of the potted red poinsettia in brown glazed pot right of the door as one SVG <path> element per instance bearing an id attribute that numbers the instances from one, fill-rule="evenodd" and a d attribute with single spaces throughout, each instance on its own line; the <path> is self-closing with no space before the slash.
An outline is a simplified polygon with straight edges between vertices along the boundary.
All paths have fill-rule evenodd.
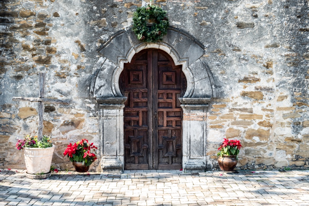
<path id="1" fill-rule="evenodd" d="M 218 163 L 220 169 L 223 171 L 234 171 L 238 161 L 238 153 L 240 150 L 239 140 L 227 140 L 224 139 L 218 150 Z"/>

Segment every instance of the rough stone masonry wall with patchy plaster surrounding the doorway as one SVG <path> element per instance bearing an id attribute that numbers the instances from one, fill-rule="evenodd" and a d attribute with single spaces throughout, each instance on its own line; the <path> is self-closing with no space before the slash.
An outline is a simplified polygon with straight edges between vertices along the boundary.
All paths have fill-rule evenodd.
<path id="1" fill-rule="evenodd" d="M 97 49 L 132 26 L 149 1 L 1 0 L 0 162 L 25 168 L 17 139 L 36 135 L 38 72 L 45 96 L 70 100 L 46 105 L 44 131 L 56 145 L 53 165 L 72 166 L 62 153 L 87 138 L 100 145 L 99 105 L 90 95 Z M 156 0 L 171 27 L 201 42 L 201 57 L 218 88 L 205 118 L 207 170 L 217 170 L 224 137 L 238 139 L 238 169 L 309 167 L 309 9 L 297 0 Z M 202 117 L 204 118 L 204 116 Z M 91 170 L 100 171 L 99 161 Z"/>

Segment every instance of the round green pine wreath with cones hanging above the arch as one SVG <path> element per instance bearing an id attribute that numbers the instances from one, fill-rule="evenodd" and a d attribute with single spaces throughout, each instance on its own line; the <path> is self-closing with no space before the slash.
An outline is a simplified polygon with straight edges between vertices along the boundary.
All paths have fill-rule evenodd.
<path id="1" fill-rule="evenodd" d="M 166 11 L 158 6 L 139 7 L 134 12 L 133 32 L 144 42 L 157 42 L 167 34 L 169 26 Z M 151 20 L 152 25 L 147 25 Z"/>

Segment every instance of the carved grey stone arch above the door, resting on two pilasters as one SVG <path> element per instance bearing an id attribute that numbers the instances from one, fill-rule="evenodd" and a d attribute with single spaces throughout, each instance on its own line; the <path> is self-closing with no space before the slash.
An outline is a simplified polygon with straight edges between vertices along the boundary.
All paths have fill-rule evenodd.
<path id="1" fill-rule="evenodd" d="M 142 42 L 131 30 L 112 36 L 98 49 L 104 57 L 100 57 L 93 68 L 90 95 L 95 98 L 122 97 L 118 80 L 123 64 L 130 62 L 135 53 L 145 48 L 162 49 L 173 58 L 175 65 L 182 65 L 188 83 L 184 98 L 216 97 L 214 79 L 201 59 L 203 44 L 172 27 L 157 43 Z"/>

